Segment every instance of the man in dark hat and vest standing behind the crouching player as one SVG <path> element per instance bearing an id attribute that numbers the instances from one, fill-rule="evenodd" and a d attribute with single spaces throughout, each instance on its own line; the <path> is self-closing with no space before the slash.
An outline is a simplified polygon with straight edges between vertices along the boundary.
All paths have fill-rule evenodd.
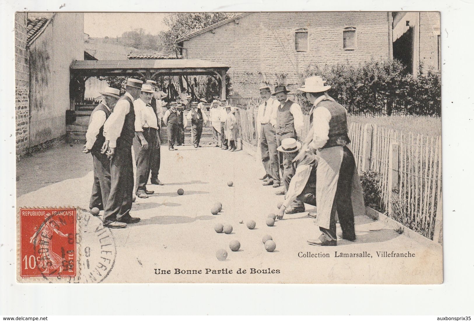
<path id="1" fill-rule="evenodd" d="M 289 90 L 286 90 L 286 86 L 278 85 L 275 87 L 275 92 L 273 93 L 273 95 L 276 96 L 276 99 L 280 102 L 280 106 L 278 106 L 276 112 L 275 125 L 276 142 L 278 146 L 282 144 L 282 141 L 285 138 L 294 138 L 298 140 L 298 136 L 301 136 L 301 130 L 303 129 L 303 113 L 301 112 L 301 107 L 297 103 L 288 99 L 287 94 L 289 92 Z M 285 186 L 284 193 L 286 193 L 294 174 L 294 169 L 291 161 L 284 158 L 282 153 L 279 153 L 279 156 L 280 169 L 283 173 L 282 179 Z M 273 185 L 273 187 L 278 186 Z M 291 212 L 291 209 L 287 210 L 288 212 Z"/>

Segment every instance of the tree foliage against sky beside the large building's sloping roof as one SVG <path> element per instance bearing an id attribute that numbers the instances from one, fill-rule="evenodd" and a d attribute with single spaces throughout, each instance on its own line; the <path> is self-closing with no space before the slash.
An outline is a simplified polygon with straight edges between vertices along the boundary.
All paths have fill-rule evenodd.
<path id="1" fill-rule="evenodd" d="M 209 27 L 219 21 L 235 17 L 232 12 L 176 12 L 168 13 L 163 22 L 169 30 L 162 31 L 160 36 L 163 41 L 164 51 L 174 52 L 174 42 L 177 38 L 188 32 Z"/>

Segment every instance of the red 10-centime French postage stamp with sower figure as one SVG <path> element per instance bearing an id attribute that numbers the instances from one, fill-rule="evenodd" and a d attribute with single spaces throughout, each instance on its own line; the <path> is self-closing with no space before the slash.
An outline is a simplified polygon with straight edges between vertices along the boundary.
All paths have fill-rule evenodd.
<path id="1" fill-rule="evenodd" d="M 20 276 L 75 276 L 76 209 L 21 208 Z"/>

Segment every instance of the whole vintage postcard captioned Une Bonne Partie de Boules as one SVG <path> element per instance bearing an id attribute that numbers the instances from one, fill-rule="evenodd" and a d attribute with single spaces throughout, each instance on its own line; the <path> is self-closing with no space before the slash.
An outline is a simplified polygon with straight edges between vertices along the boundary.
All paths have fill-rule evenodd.
<path id="1" fill-rule="evenodd" d="M 440 18 L 17 12 L 18 282 L 442 283 Z"/>

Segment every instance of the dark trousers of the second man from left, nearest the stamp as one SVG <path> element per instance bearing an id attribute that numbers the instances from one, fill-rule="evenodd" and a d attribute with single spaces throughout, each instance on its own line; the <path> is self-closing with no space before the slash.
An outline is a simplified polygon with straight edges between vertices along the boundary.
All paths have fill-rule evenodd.
<path id="1" fill-rule="evenodd" d="M 130 218 L 133 181 L 132 148 L 117 147 L 110 160 L 110 194 L 104 209 L 104 225 Z"/>

